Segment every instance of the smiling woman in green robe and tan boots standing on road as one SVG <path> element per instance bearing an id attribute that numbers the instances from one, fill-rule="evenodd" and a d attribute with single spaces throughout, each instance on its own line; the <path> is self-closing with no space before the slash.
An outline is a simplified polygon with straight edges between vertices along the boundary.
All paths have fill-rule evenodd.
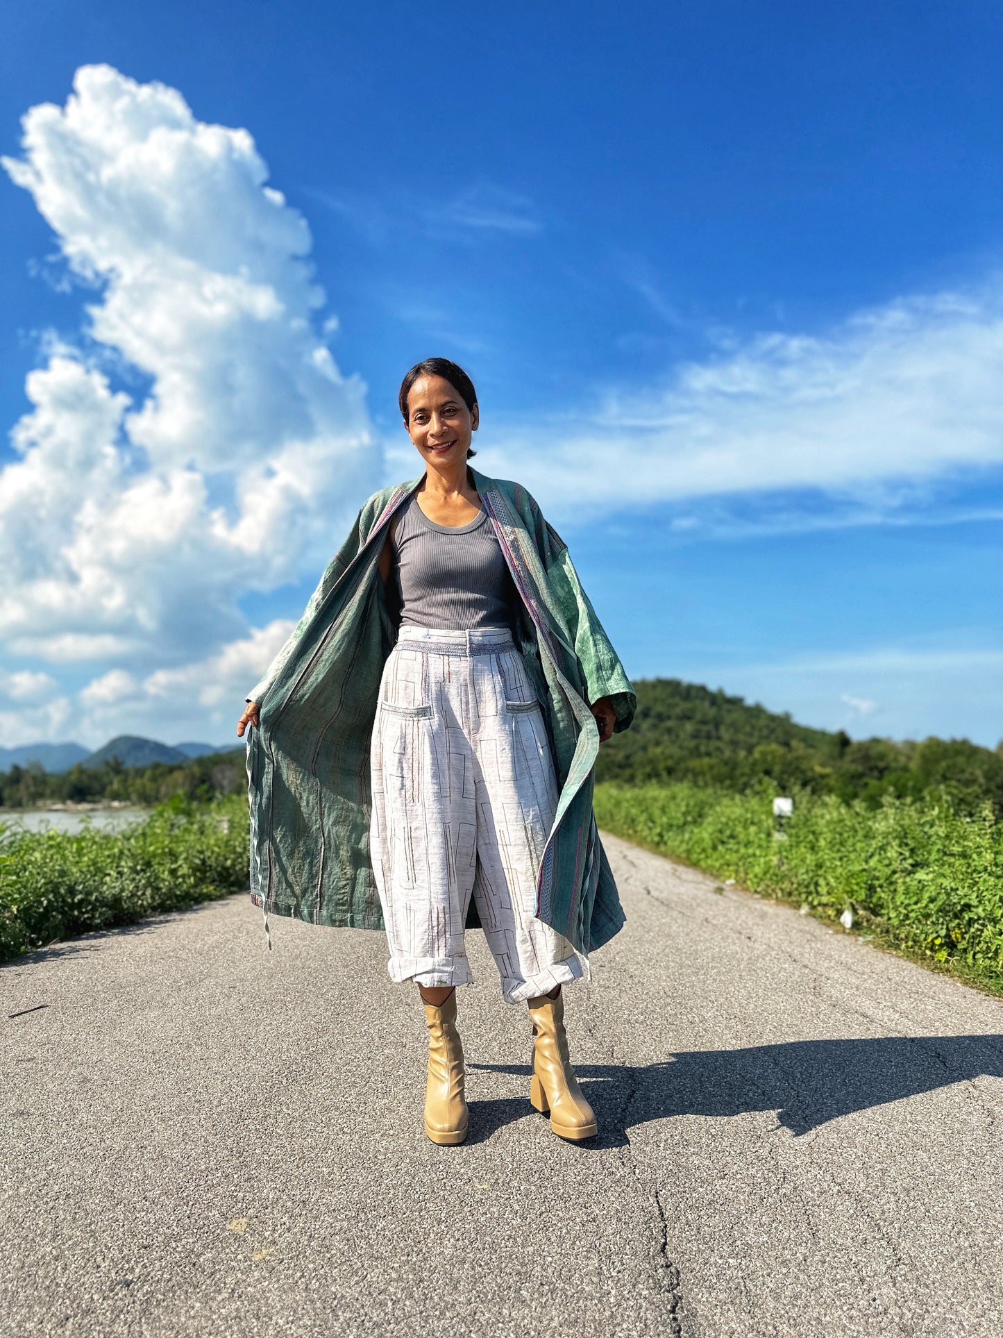
<path id="1" fill-rule="evenodd" d="M 455 987 L 464 925 L 483 925 L 504 998 L 528 1004 L 530 1100 L 586 1139 L 562 986 L 623 923 L 592 768 L 634 690 L 534 499 L 469 467 L 467 373 L 419 363 L 400 409 L 424 475 L 365 503 L 237 725 L 254 727 L 251 899 L 386 930 L 391 977 L 425 1006 L 440 1144 L 467 1136 Z"/>

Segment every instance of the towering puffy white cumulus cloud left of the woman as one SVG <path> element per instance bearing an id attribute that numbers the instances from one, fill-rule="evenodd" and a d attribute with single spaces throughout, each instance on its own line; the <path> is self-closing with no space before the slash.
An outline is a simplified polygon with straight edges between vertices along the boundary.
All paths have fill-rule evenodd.
<path id="1" fill-rule="evenodd" d="M 246 130 L 107 66 L 23 127 L 3 166 L 95 300 L 80 347 L 28 376 L 0 470 L 0 637 L 103 661 L 90 709 L 263 646 L 238 598 L 314 577 L 380 458 L 365 388 L 324 341 L 308 225 Z"/>

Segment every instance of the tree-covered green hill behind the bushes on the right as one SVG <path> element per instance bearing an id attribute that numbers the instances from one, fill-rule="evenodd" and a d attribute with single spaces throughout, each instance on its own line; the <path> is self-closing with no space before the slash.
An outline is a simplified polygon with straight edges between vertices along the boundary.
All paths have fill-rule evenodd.
<path id="1" fill-rule="evenodd" d="M 873 804 L 888 792 L 916 797 L 939 787 L 958 807 L 988 799 L 1003 811 L 999 748 L 967 739 L 853 741 L 678 678 L 641 680 L 635 688 L 634 725 L 600 749 L 596 780 L 689 780 L 742 792 L 765 779 L 778 792 L 810 789 Z"/>

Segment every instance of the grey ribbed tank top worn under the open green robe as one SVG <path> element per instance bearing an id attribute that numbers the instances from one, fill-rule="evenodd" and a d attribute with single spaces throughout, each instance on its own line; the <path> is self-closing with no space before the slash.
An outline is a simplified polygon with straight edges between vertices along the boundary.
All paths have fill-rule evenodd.
<path id="1" fill-rule="evenodd" d="M 436 524 L 415 495 L 397 512 L 391 543 L 401 626 L 512 626 L 515 586 L 483 507 L 469 524 Z"/>

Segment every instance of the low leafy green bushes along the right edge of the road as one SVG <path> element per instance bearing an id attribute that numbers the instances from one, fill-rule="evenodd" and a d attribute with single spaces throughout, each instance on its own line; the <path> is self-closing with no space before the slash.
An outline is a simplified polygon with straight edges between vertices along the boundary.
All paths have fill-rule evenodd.
<path id="1" fill-rule="evenodd" d="M 595 811 L 607 831 L 750 891 L 826 919 L 849 907 L 879 939 L 1003 991 L 1003 824 L 991 804 L 972 815 L 927 792 L 873 808 L 802 791 L 778 840 L 772 795 L 602 784 Z"/>

